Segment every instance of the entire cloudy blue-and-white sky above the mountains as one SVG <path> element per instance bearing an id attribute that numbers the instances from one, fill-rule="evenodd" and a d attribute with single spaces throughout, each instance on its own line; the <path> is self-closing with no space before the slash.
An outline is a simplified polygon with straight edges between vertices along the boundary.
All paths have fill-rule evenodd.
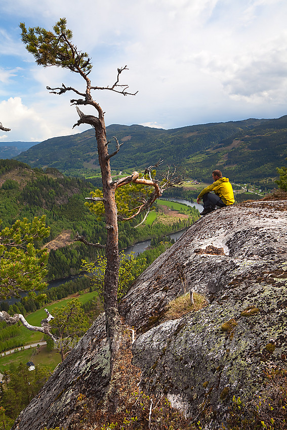
<path id="1" fill-rule="evenodd" d="M 161 128 L 287 114 L 286 0 L 1 0 L 0 142 L 43 141 L 87 129 L 70 95 L 77 75 L 34 63 L 20 22 L 51 29 L 67 18 L 74 44 L 92 58 L 92 84 L 121 83 L 136 96 L 95 92 L 106 125 Z M 93 113 L 87 108 L 85 112 Z M 83 109 L 84 110 L 84 109 Z"/>

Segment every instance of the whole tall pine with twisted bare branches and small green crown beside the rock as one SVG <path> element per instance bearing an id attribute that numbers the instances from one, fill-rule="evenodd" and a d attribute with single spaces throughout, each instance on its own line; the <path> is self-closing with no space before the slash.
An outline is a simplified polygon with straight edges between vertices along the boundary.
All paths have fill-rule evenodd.
<path id="1" fill-rule="evenodd" d="M 115 191 L 117 188 L 131 183 L 153 187 L 153 192 L 150 194 L 149 198 L 142 199 L 134 210 L 134 213 L 130 217 L 125 218 L 126 220 L 131 219 L 141 211 L 146 210 L 156 200 L 156 198 L 160 197 L 163 189 L 171 186 L 171 176 L 173 175 L 168 173 L 165 179 L 162 181 L 162 184 L 159 185 L 151 175 L 151 170 L 154 166 L 150 166 L 146 169 L 146 175 L 144 177 L 140 177 L 139 173 L 135 171 L 131 176 L 126 178 L 121 178 L 116 181 L 112 180 L 110 158 L 117 154 L 121 144 L 118 143 L 115 137 L 116 150 L 112 153 L 109 153 L 108 144 L 110 142 L 107 142 L 106 137 L 104 111 L 99 103 L 93 99 L 91 93 L 93 90 L 112 91 L 124 96 L 135 95 L 136 93 L 130 93 L 128 91 L 128 85 L 122 85 L 119 83 L 121 73 L 125 70 L 128 70 L 127 66 L 117 69 L 116 80 L 111 86 L 93 86 L 89 78 L 89 74 L 91 73 L 93 67 L 91 59 L 86 52 L 79 51 L 78 48 L 72 43 L 72 31 L 66 27 L 66 24 L 66 19 L 62 18 L 54 25 L 53 31 L 49 31 L 40 27 L 26 29 L 24 23 L 20 23 L 20 28 L 22 30 L 22 41 L 26 45 L 28 52 L 33 54 L 38 65 L 42 65 L 44 67 L 58 66 L 69 69 L 72 72 L 78 73 L 81 78 L 85 80 L 85 92 L 80 92 L 72 87 L 66 87 L 66 85 L 63 83 L 61 87 L 47 87 L 47 89 L 51 93 L 58 95 L 65 94 L 67 92 L 75 94 L 78 98 L 70 100 L 71 104 L 76 106 L 76 110 L 79 115 L 79 119 L 74 124 L 74 126 L 80 124 L 89 124 L 95 130 L 103 183 L 103 197 L 94 198 L 94 201 L 101 201 L 104 204 L 107 229 L 107 241 L 106 245 L 104 246 L 107 258 L 107 267 L 104 279 L 104 310 L 106 318 L 106 332 L 111 352 L 112 370 L 114 355 L 120 342 L 120 319 L 117 305 L 117 284 L 119 269 L 117 225 L 118 214 L 115 202 Z M 84 114 L 78 107 L 87 105 L 93 106 L 95 108 L 95 116 Z M 85 241 L 84 238 L 79 239 Z M 103 245 L 99 244 L 95 244 L 95 246 L 103 247 Z"/>

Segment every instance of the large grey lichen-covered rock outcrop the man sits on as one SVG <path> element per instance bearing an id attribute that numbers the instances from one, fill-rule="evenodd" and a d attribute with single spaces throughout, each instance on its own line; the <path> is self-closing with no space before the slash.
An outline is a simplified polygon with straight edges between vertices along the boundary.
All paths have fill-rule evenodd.
<path id="1" fill-rule="evenodd" d="M 266 368 L 287 369 L 286 232 L 287 201 L 216 210 L 140 276 L 120 312 L 136 329 L 143 390 L 216 428 L 233 396 L 246 402 L 264 394 Z M 191 288 L 209 305 L 160 323 L 166 305 Z M 71 428 L 80 393 L 95 407 L 103 399 L 108 362 L 100 317 L 13 429 Z"/>

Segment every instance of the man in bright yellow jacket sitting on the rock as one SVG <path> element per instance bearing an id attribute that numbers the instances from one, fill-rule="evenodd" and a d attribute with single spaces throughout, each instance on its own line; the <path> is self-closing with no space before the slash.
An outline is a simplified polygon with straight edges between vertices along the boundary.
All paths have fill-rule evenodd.
<path id="1" fill-rule="evenodd" d="M 212 173 L 214 183 L 203 188 L 197 197 L 197 203 L 203 200 L 203 210 L 200 215 L 204 216 L 216 209 L 216 206 L 225 207 L 234 203 L 232 185 L 228 178 L 222 177 L 220 170 L 214 170 Z M 214 191 L 215 194 L 211 193 Z"/>

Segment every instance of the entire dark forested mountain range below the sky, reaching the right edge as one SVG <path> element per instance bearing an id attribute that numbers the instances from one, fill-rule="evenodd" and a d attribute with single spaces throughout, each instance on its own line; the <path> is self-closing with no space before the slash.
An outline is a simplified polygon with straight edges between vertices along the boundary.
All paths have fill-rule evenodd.
<path id="1" fill-rule="evenodd" d="M 143 169 L 163 159 L 166 164 L 174 164 L 181 172 L 200 181 L 210 178 L 211 169 L 222 168 L 231 180 L 238 181 L 244 175 L 243 182 L 254 182 L 266 177 L 264 170 L 268 177 L 276 177 L 276 167 L 285 164 L 287 115 L 170 130 L 138 124 L 111 124 L 107 126 L 107 137 L 110 152 L 115 149 L 114 137 L 124 143 L 111 159 L 113 169 Z M 48 139 L 15 158 L 32 167 L 55 167 L 68 175 L 83 176 L 85 169 L 99 170 L 93 129 Z"/>

